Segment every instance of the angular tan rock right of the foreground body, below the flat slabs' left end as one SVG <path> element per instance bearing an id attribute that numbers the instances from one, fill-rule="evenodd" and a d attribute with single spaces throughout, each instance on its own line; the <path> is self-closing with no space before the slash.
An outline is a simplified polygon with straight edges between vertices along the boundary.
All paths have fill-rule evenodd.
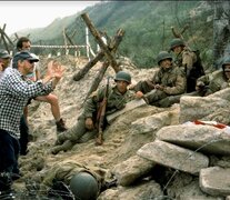
<path id="1" fill-rule="evenodd" d="M 111 172 L 116 176 L 118 184 L 126 187 L 148 174 L 153 167 L 154 163 L 152 161 L 133 156 L 117 164 Z"/>

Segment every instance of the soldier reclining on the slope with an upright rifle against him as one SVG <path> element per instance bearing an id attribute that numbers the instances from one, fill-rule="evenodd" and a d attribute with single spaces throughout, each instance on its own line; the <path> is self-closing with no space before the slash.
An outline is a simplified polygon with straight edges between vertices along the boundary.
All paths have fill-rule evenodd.
<path id="1" fill-rule="evenodd" d="M 109 86 L 106 116 L 121 110 L 126 103 L 134 98 L 128 90 L 131 83 L 131 76 L 126 71 L 119 71 L 114 78 L 116 86 Z M 59 151 L 70 150 L 77 142 L 86 142 L 92 139 L 97 132 L 99 121 L 99 108 L 104 98 L 106 87 L 94 91 L 86 101 L 83 112 L 78 118 L 78 122 L 69 130 L 58 134 L 56 147 L 51 149 L 53 154 Z M 107 122 L 103 123 L 103 129 Z"/>

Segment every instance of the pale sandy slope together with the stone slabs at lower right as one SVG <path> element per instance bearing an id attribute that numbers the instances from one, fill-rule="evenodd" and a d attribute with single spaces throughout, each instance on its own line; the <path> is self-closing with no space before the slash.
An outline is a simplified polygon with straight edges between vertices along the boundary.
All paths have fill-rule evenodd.
<path id="1" fill-rule="evenodd" d="M 52 59 L 66 66 L 64 77 L 54 93 L 59 98 L 61 114 L 70 128 L 82 111 L 86 94 L 102 63 L 98 62 L 83 79 L 76 82 L 72 76 L 88 60 L 72 56 Z M 49 60 L 41 57 L 43 70 Z M 137 69 L 130 62 L 123 62 L 122 69 L 132 74 L 132 82 L 151 77 L 154 70 Z M 108 69 L 107 76 L 114 76 L 112 68 Z M 96 146 L 92 139 L 86 143 L 77 143 L 71 150 L 58 154 L 50 152 L 57 133 L 49 104 L 33 101 L 29 107 L 32 140 L 29 143 L 29 153 L 19 158 L 23 177 L 14 182 L 14 190 L 21 199 L 46 199 L 43 193 L 38 193 L 39 177 L 58 163 L 73 161 L 104 170 L 107 179 L 118 179 L 118 187 L 103 191 L 99 200 L 224 200 L 230 196 L 227 176 L 230 168 L 229 133 L 209 126 L 182 123 L 200 119 L 230 124 L 229 107 L 226 107 L 226 103 L 229 103 L 229 93 L 228 89 L 209 98 L 184 98 L 181 104 L 170 108 L 144 104 L 119 116 L 103 132 L 102 146 Z M 194 104 L 198 108 L 196 110 Z M 188 141 L 180 141 L 183 136 Z M 159 143 L 152 143 L 159 140 L 170 141 L 164 142 L 168 143 L 167 150 L 162 146 L 158 147 Z M 154 146 L 157 156 L 152 150 Z M 144 156 L 144 152 L 150 153 L 150 157 Z M 182 156 L 183 152 L 186 156 Z M 159 159 L 157 164 L 151 160 L 154 157 Z M 226 170 L 227 174 L 220 173 L 222 178 L 214 176 L 217 189 L 204 187 L 201 190 L 198 171 L 212 167 Z"/>

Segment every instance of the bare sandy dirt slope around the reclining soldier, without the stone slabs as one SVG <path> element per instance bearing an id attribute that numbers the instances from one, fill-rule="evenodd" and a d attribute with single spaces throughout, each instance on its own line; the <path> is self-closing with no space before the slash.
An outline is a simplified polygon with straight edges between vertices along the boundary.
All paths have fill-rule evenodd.
<path id="1" fill-rule="evenodd" d="M 41 69 L 46 70 L 46 66 L 50 59 L 40 59 Z M 86 96 L 102 63 L 98 62 L 81 80 L 73 81 L 73 74 L 82 69 L 86 63 L 88 63 L 88 59 L 79 59 L 72 56 L 60 56 L 56 59 L 66 66 L 66 72 L 53 93 L 59 99 L 61 117 L 66 121 L 67 127 L 71 128 L 77 122 L 78 116 L 82 111 L 81 109 Z M 140 70 L 133 64 L 123 66 L 123 69 L 128 70 L 132 74 L 132 82 L 151 77 L 154 71 L 154 69 Z M 114 77 L 114 74 L 113 69 L 109 67 L 101 84 L 104 83 L 107 76 Z M 13 187 L 18 191 L 23 191 L 26 190 L 24 181 L 32 179 L 43 169 L 49 169 L 61 161 L 68 160 L 74 160 L 88 167 L 100 167 L 108 171 L 109 177 L 109 171 L 116 164 L 134 156 L 137 150 L 144 143 L 153 141 L 152 136 L 139 136 L 139 138 L 133 137 L 131 134 L 132 122 L 138 121 L 143 117 L 152 116 L 170 109 L 174 108 L 144 106 L 144 108 L 141 107 L 129 111 L 117 118 L 116 121 L 106 129 L 103 132 L 104 142 L 102 146 L 96 146 L 94 140 L 92 139 L 87 143 L 77 143 L 70 151 L 59 152 L 54 156 L 50 152 L 50 149 L 56 142 L 57 131 L 50 106 L 44 102 L 32 101 L 29 106 L 29 128 L 32 139 L 29 143 L 29 153 L 19 158 L 20 169 L 23 177 L 22 179 L 19 179 Z M 177 121 L 174 123 L 177 123 Z M 162 172 L 160 172 L 159 176 L 161 173 Z M 170 181 L 170 176 L 173 176 L 173 172 L 169 170 L 167 174 L 168 176 L 160 178 L 160 180 L 162 181 L 162 179 L 164 179 L 166 182 Z M 183 188 L 182 186 L 188 182 L 191 182 L 190 188 Z M 191 176 L 180 173 L 174 180 L 172 187 L 169 189 L 169 193 L 171 192 L 171 197 L 177 197 L 177 193 L 186 193 L 186 196 L 192 197 L 196 196 L 197 191 L 199 191 L 196 196 L 199 197 L 200 190 L 197 189 L 199 187 L 197 186 L 197 182 L 198 180 L 193 180 Z M 127 198 L 129 196 L 127 196 Z M 131 197 L 132 196 L 130 196 L 128 200 L 140 199 Z M 203 196 L 200 197 L 203 198 Z M 113 199 L 123 200 L 122 198 Z M 186 199 L 187 198 L 184 198 L 184 200 Z"/>

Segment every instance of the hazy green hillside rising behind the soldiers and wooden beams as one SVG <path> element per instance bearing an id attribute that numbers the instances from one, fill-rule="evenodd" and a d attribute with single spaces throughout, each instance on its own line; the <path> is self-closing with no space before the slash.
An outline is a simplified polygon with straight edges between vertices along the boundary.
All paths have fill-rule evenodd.
<path id="1" fill-rule="evenodd" d="M 181 30 L 186 24 L 184 40 L 201 51 L 206 66 L 210 66 L 212 47 L 211 7 L 204 1 L 102 1 L 89 7 L 87 12 L 98 30 L 113 37 L 119 28 L 126 31 L 118 53 L 129 57 L 139 68 L 156 66 L 154 58 L 168 50 L 173 38 L 171 27 Z M 86 24 L 77 13 L 56 19 L 44 29 L 30 30 L 33 44 L 63 44 L 63 28 L 76 44 L 84 44 Z M 90 34 L 96 50 L 96 41 Z M 47 50 L 48 51 L 48 50 Z M 47 52 L 46 51 L 46 52 Z M 86 52 L 84 52 L 86 53 Z"/>

